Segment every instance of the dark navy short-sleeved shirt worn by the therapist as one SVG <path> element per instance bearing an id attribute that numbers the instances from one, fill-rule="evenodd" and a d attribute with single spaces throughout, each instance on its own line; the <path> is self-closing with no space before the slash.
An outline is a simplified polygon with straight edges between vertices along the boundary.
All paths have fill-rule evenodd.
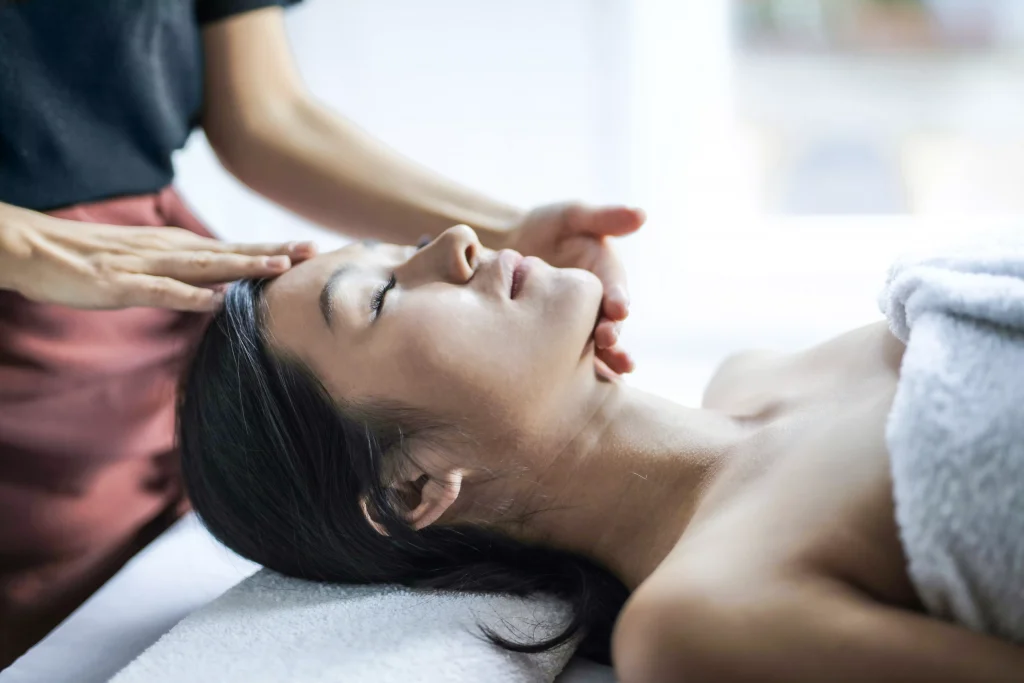
<path id="1" fill-rule="evenodd" d="M 0 0 L 0 202 L 169 184 L 202 104 L 202 26 L 298 1 Z"/>

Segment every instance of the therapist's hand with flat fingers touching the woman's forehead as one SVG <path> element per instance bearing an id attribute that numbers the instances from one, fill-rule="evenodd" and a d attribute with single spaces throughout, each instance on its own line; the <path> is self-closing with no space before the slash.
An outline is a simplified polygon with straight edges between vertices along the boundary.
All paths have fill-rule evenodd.
<path id="1" fill-rule="evenodd" d="M 217 286 L 278 275 L 310 243 L 225 244 L 178 227 L 69 221 L 0 206 L 0 287 L 75 308 L 215 310 Z"/>

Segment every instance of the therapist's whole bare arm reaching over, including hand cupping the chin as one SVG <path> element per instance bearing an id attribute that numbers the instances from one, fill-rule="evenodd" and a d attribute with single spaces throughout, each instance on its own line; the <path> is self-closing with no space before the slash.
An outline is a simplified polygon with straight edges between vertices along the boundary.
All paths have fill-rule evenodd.
<path id="1" fill-rule="evenodd" d="M 524 212 L 413 163 L 308 93 L 279 7 L 214 23 L 203 41 L 203 127 L 236 177 L 352 237 L 416 244 L 465 223 L 492 249 L 508 247 L 554 266 L 590 270 L 604 288 L 594 329 L 598 369 L 633 369 L 618 344 L 629 314 L 626 273 L 608 239 L 639 229 L 642 211 L 566 203 Z"/>

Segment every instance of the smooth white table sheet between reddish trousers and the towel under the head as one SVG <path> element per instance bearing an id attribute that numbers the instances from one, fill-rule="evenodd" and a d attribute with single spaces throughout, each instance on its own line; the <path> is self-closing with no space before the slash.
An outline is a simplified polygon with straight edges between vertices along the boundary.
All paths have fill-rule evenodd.
<path id="1" fill-rule="evenodd" d="M 191 515 L 124 566 L 0 683 L 104 683 L 195 609 L 257 566 L 217 544 Z M 558 683 L 614 683 L 610 668 L 575 660 Z"/>

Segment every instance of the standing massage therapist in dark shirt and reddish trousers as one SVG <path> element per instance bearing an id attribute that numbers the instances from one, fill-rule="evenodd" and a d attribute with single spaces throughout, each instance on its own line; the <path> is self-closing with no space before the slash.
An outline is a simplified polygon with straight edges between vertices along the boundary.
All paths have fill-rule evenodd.
<path id="1" fill-rule="evenodd" d="M 628 300 L 607 237 L 643 215 L 529 213 L 402 159 L 300 82 L 288 0 L 0 0 L 0 668 L 187 509 L 174 393 L 217 286 L 311 244 L 224 244 L 172 187 L 202 126 L 221 163 L 355 238 L 484 244 L 593 270 L 613 373 Z M 415 111 L 415 106 L 411 108 Z"/>

